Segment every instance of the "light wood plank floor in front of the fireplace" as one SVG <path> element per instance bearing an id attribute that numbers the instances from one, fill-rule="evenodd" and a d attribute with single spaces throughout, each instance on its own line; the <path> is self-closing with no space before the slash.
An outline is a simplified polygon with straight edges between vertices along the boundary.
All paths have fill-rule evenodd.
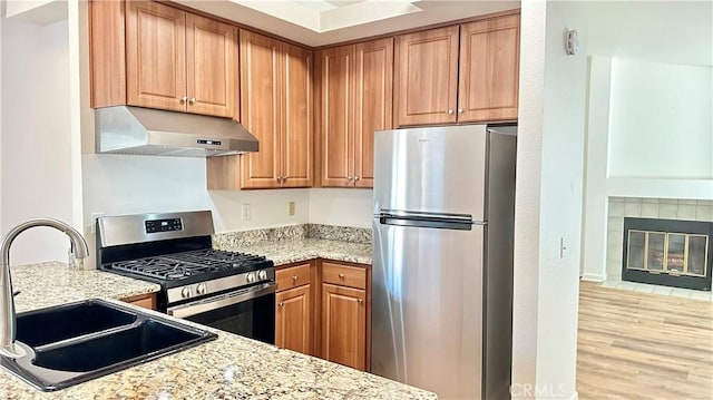
<path id="1" fill-rule="evenodd" d="M 582 400 L 713 399 L 713 303 L 579 286 Z"/>

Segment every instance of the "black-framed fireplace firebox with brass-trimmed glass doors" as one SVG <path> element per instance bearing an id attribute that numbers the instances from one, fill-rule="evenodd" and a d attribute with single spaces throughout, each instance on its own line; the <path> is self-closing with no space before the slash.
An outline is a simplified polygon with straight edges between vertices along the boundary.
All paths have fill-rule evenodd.
<path id="1" fill-rule="evenodd" d="M 624 218 L 622 280 L 711 290 L 713 223 Z"/>

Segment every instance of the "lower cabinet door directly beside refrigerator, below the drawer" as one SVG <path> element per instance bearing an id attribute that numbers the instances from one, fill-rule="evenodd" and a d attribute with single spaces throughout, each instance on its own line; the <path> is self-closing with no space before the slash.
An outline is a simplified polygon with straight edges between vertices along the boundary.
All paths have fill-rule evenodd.
<path id="1" fill-rule="evenodd" d="M 322 284 L 322 357 L 364 370 L 367 301 L 363 290 Z"/>

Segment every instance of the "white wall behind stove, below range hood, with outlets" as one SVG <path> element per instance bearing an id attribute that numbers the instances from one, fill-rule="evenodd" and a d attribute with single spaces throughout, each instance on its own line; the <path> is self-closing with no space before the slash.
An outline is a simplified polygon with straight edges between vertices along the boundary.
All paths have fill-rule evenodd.
<path id="1" fill-rule="evenodd" d="M 94 247 L 92 214 L 211 209 L 216 232 L 309 222 L 309 189 L 207 192 L 205 158 L 85 154 L 85 236 Z M 295 202 L 295 215 L 289 215 Z M 242 205 L 251 216 L 242 218 Z"/>

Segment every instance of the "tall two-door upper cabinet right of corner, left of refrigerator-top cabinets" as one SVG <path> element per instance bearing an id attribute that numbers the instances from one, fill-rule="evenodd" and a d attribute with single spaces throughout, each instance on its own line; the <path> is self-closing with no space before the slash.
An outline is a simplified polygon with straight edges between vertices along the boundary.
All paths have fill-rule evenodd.
<path id="1" fill-rule="evenodd" d="M 322 186 L 373 186 L 373 135 L 392 127 L 392 38 L 320 51 Z"/>

